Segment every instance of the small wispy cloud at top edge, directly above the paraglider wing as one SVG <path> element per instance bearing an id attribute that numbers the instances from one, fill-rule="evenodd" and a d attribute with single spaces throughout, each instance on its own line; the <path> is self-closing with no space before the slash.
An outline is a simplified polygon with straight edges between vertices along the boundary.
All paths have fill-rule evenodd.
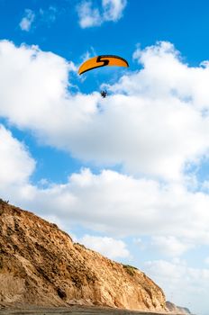
<path id="1" fill-rule="evenodd" d="M 85 0 L 77 5 L 79 25 L 87 27 L 99 26 L 106 21 L 118 21 L 123 16 L 126 0 L 102 0 L 101 10 L 95 3 Z"/>

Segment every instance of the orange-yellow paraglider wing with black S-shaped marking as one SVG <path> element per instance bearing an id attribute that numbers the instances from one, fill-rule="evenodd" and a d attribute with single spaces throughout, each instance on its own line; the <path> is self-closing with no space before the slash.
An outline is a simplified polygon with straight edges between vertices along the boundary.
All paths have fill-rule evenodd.
<path id="1" fill-rule="evenodd" d="M 78 74 L 82 75 L 86 71 L 95 69 L 95 67 L 104 66 L 117 66 L 117 67 L 129 67 L 128 62 L 119 56 L 114 55 L 102 55 L 96 56 L 86 60 L 78 69 Z"/>

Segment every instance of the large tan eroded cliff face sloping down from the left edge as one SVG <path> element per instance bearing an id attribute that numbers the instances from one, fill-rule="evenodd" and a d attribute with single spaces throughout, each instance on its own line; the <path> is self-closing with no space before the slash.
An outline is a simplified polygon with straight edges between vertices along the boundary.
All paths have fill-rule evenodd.
<path id="1" fill-rule="evenodd" d="M 0 304 L 83 303 L 166 311 L 162 290 L 132 266 L 73 243 L 55 224 L 0 200 Z"/>

